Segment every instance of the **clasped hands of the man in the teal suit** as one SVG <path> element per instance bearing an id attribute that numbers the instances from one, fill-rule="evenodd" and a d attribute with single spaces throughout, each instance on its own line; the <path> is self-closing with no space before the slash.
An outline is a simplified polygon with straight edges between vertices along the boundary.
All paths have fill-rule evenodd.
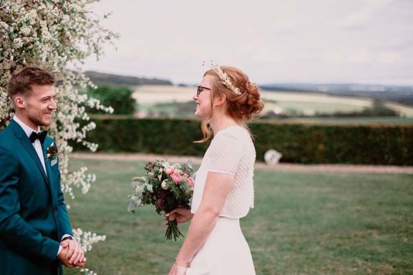
<path id="1" fill-rule="evenodd" d="M 61 242 L 62 250 L 58 259 L 67 267 L 83 267 L 86 263 L 85 253 L 77 241 L 65 240 Z"/>

